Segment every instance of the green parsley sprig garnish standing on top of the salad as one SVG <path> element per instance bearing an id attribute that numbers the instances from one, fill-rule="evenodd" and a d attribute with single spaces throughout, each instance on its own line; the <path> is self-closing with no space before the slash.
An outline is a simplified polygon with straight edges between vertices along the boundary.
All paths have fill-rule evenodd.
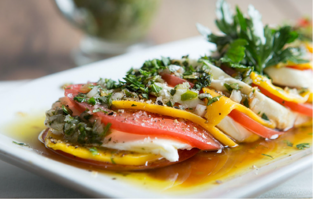
<path id="1" fill-rule="evenodd" d="M 248 7 L 249 18 L 244 17 L 239 7 L 236 7 L 234 15 L 231 13 L 227 2 L 217 2 L 215 23 L 223 32 L 221 36 L 197 24 L 198 31 L 217 45 L 219 55 L 215 59 L 221 64 L 235 69 L 239 65 L 241 68 L 253 67 L 253 70 L 263 74 L 264 68 L 280 62 L 308 62 L 301 58 L 300 48 L 286 47 L 299 36 L 290 26 L 278 29 L 271 29 L 268 25 L 264 27 L 260 13 L 252 5 Z"/>

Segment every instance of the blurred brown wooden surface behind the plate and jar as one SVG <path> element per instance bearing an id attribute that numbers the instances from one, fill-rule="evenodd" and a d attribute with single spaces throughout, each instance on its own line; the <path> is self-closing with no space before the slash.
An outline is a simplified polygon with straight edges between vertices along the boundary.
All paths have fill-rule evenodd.
<path id="1" fill-rule="evenodd" d="M 228 0 L 246 11 L 253 4 L 264 23 L 312 17 L 310 0 Z M 213 31 L 215 0 L 163 0 L 148 33 L 154 44 L 199 35 L 195 23 Z M 0 1 L 0 80 L 37 78 L 75 67 L 71 58 L 83 33 L 72 27 L 52 0 Z"/>

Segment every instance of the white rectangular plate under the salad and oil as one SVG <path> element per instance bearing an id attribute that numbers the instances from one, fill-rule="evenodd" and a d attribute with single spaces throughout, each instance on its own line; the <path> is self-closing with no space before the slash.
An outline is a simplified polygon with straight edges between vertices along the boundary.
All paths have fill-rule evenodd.
<path id="1" fill-rule="evenodd" d="M 64 83 L 85 83 L 97 81 L 100 77 L 117 80 L 125 75 L 131 67 L 139 68 L 145 60 L 170 56 L 181 58 L 189 54 L 191 58 L 199 58 L 209 53 L 214 46 L 202 37 L 190 38 L 160 46 L 151 47 L 125 55 L 99 61 L 87 66 L 77 67 L 53 75 L 48 75 L 21 86 L 18 89 L 2 93 L 0 103 L 2 114 L 0 119 L 0 158 L 8 163 L 44 175 L 49 179 L 72 187 L 93 197 L 114 198 L 242 198 L 256 196 L 297 174 L 313 164 L 311 149 L 300 151 L 288 158 L 250 171 L 243 176 L 225 182 L 214 189 L 208 189 L 189 195 L 167 195 L 162 192 L 147 191 L 140 186 L 127 182 L 112 181 L 110 176 L 98 174 L 92 176 L 85 169 L 72 167 L 40 155 L 34 150 L 12 143 L 7 137 L 17 112 L 30 114 L 48 110 L 51 104 L 63 96 L 60 86 Z M 4 105 L 5 104 L 5 105 Z M 4 114 L 5 113 L 5 114 Z M 18 124 L 17 124 L 18 125 Z M 295 160 L 297 160 L 295 162 Z M 258 175 L 256 175 L 258 174 Z M 123 191 L 120 191 L 123 190 Z"/>

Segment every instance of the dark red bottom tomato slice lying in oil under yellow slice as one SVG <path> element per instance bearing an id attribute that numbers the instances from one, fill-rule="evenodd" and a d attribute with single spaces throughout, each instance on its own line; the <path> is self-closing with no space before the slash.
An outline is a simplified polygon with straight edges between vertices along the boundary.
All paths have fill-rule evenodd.
<path id="1" fill-rule="evenodd" d="M 49 128 L 45 130 L 45 132 L 42 134 L 42 139 L 46 137 L 47 133 L 49 131 Z M 199 152 L 198 148 L 192 148 L 191 150 L 178 150 L 179 159 L 177 162 L 170 162 L 166 160 L 165 158 L 162 158 L 158 161 L 154 161 L 147 165 L 120 165 L 120 164 L 112 164 L 108 162 L 100 162 L 100 161 L 94 161 L 94 160 L 88 160 L 83 158 L 78 158 L 72 154 L 65 153 L 61 150 L 53 150 L 52 148 L 47 147 L 49 150 L 53 151 L 54 153 L 57 153 L 59 155 L 64 156 L 65 158 L 71 158 L 77 162 L 86 164 L 86 167 L 90 167 L 90 165 L 93 165 L 96 168 L 101 169 L 110 169 L 115 171 L 135 171 L 135 170 L 144 170 L 144 169 L 153 169 L 153 168 L 160 168 L 160 167 L 166 167 L 172 164 L 176 164 L 179 162 L 182 162 L 188 158 L 191 158 L 195 154 Z M 81 165 L 83 166 L 83 165 Z"/>

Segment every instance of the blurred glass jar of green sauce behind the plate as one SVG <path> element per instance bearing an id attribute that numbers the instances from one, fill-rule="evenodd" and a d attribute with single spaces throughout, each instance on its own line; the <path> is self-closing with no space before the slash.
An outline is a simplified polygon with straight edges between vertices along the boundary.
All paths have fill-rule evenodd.
<path id="1" fill-rule="evenodd" d="M 86 34 L 74 55 L 81 65 L 146 46 L 144 39 L 160 0 L 55 2 L 62 14 Z"/>

